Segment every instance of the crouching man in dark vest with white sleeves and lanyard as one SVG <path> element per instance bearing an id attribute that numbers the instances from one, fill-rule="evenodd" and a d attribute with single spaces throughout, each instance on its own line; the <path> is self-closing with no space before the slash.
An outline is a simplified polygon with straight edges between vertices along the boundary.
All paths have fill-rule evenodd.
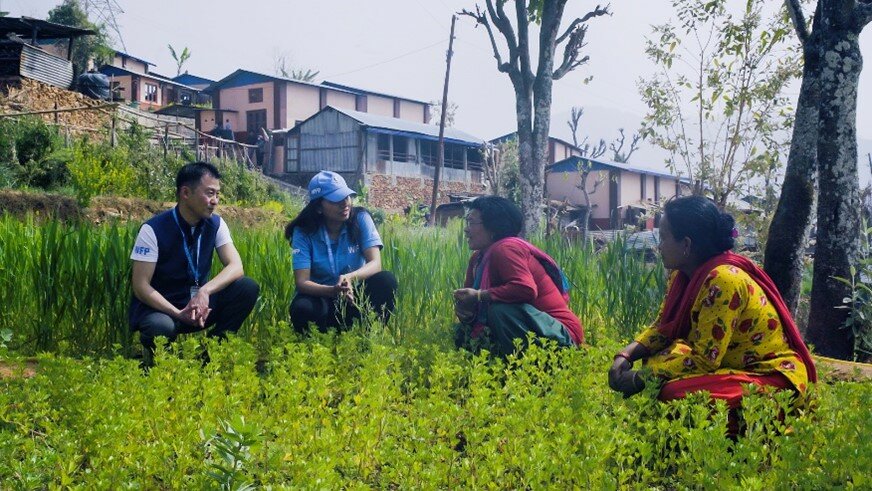
<path id="1" fill-rule="evenodd" d="M 187 164 L 176 176 L 177 205 L 139 229 L 133 253 L 130 326 L 148 358 L 154 338 L 208 327 L 209 336 L 236 332 L 251 313 L 259 287 L 243 276 L 242 260 L 224 220 L 214 214 L 221 190 L 215 166 Z M 224 268 L 211 280 L 212 252 Z"/>

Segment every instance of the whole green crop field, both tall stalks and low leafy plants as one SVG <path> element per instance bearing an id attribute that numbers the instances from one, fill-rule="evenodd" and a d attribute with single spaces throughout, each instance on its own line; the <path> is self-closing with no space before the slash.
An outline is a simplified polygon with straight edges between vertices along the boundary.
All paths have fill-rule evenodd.
<path id="1" fill-rule="evenodd" d="M 388 325 L 297 338 L 281 231 L 234 230 L 262 288 L 251 320 L 221 345 L 184 337 L 144 373 L 126 327 L 136 226 L 0 219 L 0 356 L 38 361 L 0 380 L 0 488 L 872 488 L 869 383 L 818 384 L 814 411 L 781 419 L 784 397 L 749 396 L 735 441 L 700 397 L 611 392 L 611 354 L 664 287 L 620 244 L 536 241 L 590 344 L 502 361 L 451 344 L 458 225 L 381 232 L 400 281 Z"/>

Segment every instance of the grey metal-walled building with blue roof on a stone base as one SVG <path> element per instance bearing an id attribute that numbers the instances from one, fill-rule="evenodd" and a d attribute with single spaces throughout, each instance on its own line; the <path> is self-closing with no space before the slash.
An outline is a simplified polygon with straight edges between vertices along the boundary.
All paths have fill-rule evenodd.
<path id="1" fill-rule="evenodd" d="M 370 203 L 399 210 L 429 203 L 438 159 L 439 127 L 328 106 L 285 134 L 282 177 L 305 184 L 320 170 L 342 174 L 353 187 L 366 186 Z M 482 148 L 486 142 L 445 128 L 445 166 L 440 202 L 449 194 L 482 194 Z"/>

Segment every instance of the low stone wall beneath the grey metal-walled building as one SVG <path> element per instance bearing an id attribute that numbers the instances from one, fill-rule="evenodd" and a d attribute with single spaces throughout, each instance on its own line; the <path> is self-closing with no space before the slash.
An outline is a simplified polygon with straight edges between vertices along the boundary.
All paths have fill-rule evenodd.
<path id="1" fill-rule="evenodd" d="M 429 204 L 433 194 L 433 180 L 426 177 L 392 177 L 384 174 L 366 176 L 369 203 L 387 211 L 402 211 L 412 203 Z M 485 194 L 482 183 L 442 182 L 439 200 L 448 203 L 449 194 Z"/>

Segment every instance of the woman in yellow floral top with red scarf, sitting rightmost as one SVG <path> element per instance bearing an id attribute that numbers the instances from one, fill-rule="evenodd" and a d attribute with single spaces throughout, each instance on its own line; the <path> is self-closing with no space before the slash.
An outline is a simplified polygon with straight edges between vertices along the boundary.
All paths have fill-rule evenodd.
<path id="1" fill-rule="evenodd" d="M 654 324 L 615 355 L 609 385 L 629 397 L 644 388 L 633 363 L 666 381 L 664 401 L 707 391 L 739 407 L 743 385 L 805 393 L 817 375 L 772 280 L 733 254 L 733 217 L 699 196 L 666 204 L 660 254 L 672 270 Z"/>

